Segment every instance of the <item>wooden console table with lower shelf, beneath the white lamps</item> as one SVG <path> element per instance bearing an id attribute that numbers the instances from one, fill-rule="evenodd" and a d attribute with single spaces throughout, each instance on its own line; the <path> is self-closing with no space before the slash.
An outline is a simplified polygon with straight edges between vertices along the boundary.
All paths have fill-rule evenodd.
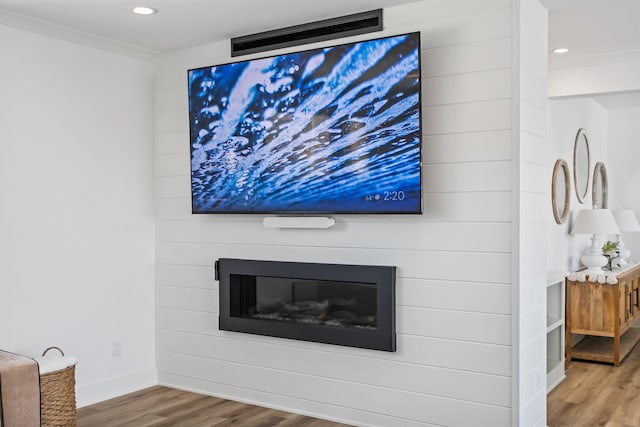
<path id="1" fill-rule="evenodd" d="M 640 341 L 640 265 L 616 274 L 616 284 L 566 279 L 566 361 L 620 362 Z M 572 334 L 586 335 L 572 346 Z"/>

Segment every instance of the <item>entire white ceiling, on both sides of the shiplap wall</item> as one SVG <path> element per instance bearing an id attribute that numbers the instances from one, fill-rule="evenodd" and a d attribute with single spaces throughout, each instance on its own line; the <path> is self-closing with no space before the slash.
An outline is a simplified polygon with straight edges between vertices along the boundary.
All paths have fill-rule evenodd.
<path id="1" fill-rule="evenodd" d="M 0 24 L 152 58 L 230 37 L 416 1 L 429 0 L 0 0 Z M 562 56 L 550 53 L 550 70 L 640 61 L 640 0 L 541 2 L 549 9 L 549 47 L 570 49 Z M 137 4 L 158 13 L 134 15 L 129 8 Z M 638 93 L 617 95 L 603 98 L 603 105 L 640 106 Z"/>

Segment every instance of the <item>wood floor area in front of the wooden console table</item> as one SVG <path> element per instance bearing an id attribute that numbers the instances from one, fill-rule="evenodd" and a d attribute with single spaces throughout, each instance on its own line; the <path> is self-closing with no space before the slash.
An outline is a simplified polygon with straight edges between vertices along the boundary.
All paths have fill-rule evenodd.
<path id="1" fill-rule="evenodd" d="M 619 367 L 573 361 L 547 398 L 549 427 L 640 427 L 640 344 Z"/>

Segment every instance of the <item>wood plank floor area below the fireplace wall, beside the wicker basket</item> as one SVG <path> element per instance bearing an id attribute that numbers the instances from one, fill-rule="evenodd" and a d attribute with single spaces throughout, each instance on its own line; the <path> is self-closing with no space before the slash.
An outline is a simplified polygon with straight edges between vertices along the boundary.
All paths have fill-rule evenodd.
<path id="1" fill-rule="evenodd" d="M 78 409 L 79 427 L 348 427 L 303 415 L 155 386 Z"/>

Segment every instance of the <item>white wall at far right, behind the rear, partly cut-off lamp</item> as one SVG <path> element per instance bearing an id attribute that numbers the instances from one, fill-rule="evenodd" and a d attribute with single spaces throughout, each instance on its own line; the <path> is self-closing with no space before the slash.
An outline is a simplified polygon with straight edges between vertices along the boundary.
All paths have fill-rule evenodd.
<path id="1" fill-rule="evenodd" d="M 609 207 L 633 209 L 640 218 L 640 108 L 609 110 L 606 163 L 609 176 Z M 640 261 L 640 232 L 622 235 L 625 247 L 631 251 L 630 260 Z"/>

